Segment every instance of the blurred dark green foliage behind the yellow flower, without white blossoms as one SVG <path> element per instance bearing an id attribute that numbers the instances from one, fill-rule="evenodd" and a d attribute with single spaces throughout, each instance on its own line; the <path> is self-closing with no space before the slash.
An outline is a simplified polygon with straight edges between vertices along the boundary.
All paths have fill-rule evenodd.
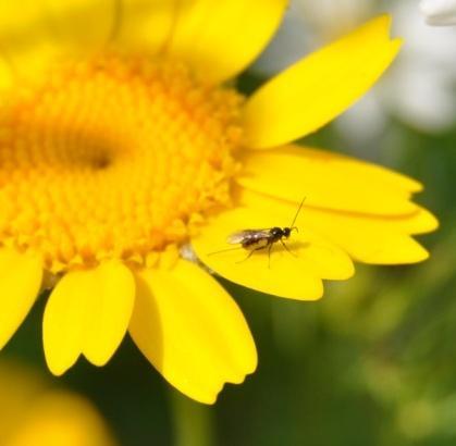
<path id="1" fill-rule="evenodd" d="M 248 92 L 263 76 L 245 74 L 239 88 Z M 130 339 L 104 368 L 79 360 L 54 383 L 90 398 L 121 445 L 456 444 L 456 125 L 430 132 L 390 113 L 369 145 L 344 137 L 337 123 L 304 143 L 420 179 L 426 191 L 417 201 L 441 221 L 435 234 L 420 237 L 431 259 L 357 265 L 354 278 L 326 284 L 318 302 L 223 281 L 249 321 L 260 359 L 257 372 L 227 385 L 212 407 L 175 392 Z M 2 354 L 40 370 L 44 301 Z"/>

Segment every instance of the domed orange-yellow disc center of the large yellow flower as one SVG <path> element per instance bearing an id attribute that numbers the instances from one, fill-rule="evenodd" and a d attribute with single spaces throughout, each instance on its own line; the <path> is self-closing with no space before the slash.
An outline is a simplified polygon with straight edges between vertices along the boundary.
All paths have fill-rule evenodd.
<path id="1" fill-rule="evenodd" d="M 229 201 L 241 102 L 163 60 L 59 67 L 0 109 L 0 243 L 52 271 L 184 243 Z"/>

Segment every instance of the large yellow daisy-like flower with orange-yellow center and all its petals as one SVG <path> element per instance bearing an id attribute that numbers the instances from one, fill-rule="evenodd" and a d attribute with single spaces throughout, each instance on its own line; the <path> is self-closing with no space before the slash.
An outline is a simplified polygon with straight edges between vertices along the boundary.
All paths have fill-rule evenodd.
<path id="1" fill-rule="evenodd" d="M 295 299 L 353 260 L 427 258 L 420 185 L 289 143 L 348 108 L 400 46 L 381 16 L 243 97 L 285 0 L 29 0 L 0 8 L 0 346 L 53 278 L 46 359 L 104 364 L 128 331 L 177 389 L 213 402 L 257 354 L 209 270 Z M 46 4 L 46 8 L 45 8 Z M 285 226 L 292 253 L 211 255 L 242 228 Z M 180 253 L 197 257 L 186 260 Z M 269 267 L 269 261 L 271 263 Z M 51 275 L 53 274 L 53 275 Z"/>

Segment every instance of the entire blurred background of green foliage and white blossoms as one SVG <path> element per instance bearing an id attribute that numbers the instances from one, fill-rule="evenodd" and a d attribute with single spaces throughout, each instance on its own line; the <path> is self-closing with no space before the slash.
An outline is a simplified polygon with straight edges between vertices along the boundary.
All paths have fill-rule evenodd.
<path id="1" fill-rule="evenodd" d="M 328 285 L 318 302 L 223 282 L 249 321 L 260 361 L 212 407 L 172 389 L 128 339 L 104 368 L 79 360 L 52 379 L 38 336 L 44 299 L 3 358 L 87 397 L 121 446 L 455 445 L 456 27 L 424 25 L 415 0 L 295 0 L 239 87 L 254 90 L 380 11 L 393 15 L 394 34 L 405 38 L 399 59 L 365 99 L 303 144 L 420 179 L 418 201 L 441 221 L 439 232 L 421 237 L 430 260 L 358 265 L 354 278 Z"/>

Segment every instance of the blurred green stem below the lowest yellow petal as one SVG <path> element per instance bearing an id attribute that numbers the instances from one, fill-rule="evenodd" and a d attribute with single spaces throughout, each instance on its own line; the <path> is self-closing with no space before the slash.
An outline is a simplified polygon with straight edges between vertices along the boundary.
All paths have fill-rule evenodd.
<path id="1" fill-rule="evenodd" d="M 170 389 L 174 446 L 212 446 L 212 408 Z"/>

